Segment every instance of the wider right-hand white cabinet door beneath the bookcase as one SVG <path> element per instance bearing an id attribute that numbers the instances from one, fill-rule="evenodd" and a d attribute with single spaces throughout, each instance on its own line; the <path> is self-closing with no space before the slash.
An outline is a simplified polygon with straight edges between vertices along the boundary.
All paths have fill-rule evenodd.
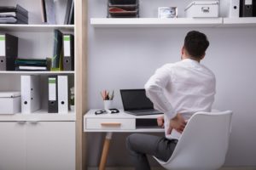
<path id="1" fill-rule="evenodd" d="M 75 169 L 75 122 L 28 122 L 27 170 Z"/>

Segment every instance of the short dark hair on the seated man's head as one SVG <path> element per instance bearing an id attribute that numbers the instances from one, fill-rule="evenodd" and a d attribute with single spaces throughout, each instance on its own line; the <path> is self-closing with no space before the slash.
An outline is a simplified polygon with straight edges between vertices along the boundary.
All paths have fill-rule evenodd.
<path id="1" fill-rule="evenodd" d="M 195 59 L 201 59 L 209 47 L 207 36 L 200 31 L 189 31 L 184 41 L 184 48 Z"/>

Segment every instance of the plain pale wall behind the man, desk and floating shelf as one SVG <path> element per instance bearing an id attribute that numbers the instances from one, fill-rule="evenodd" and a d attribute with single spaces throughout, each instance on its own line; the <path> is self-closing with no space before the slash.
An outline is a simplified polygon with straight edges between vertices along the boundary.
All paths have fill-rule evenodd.
<path id="1" fill-rule="evenodd" d="M 107 1 L 90 0 L 89 17 L 105 17 Z M 156 17 L 157 7 L 177 6 L 190 1 L 143 0 L 141 17 Z M 226 16 L 227 1 L 221 2 Z M 183 16 L 183 13 L 180 13 Z M 89 108 L 102 108 L 99 92 L 114 89 L 114 106 L 122 108 L 119 89 L 143 88 L 154 71 L 180 59 L 183 38 L 190 30 L 207 34 L 210 47 L 202 61 L 217 77 L 214 108 L 232 110 L 233 128 L 226 165 L 256 165 L 256 31 L 253 28 L 93 28 L 89 25 Z M 217 125 L 218 126 L 218 125 Z M 109 166 L 131 166 L 125 150 L 129 133 L 114 134 Z M 158 134 L 162 135 L 162 134 Z M 88 134 L 89 166 L 96 166 L 102 150 L 101 133 Z M 101 146 L 101 147 L 99 147 Z M 155 162 L 153 162 L 155 164 Z"/>

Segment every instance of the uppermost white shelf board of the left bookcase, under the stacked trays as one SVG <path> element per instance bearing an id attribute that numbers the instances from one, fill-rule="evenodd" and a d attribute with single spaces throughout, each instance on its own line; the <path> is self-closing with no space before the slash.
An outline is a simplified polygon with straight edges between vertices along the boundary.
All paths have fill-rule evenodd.
<path id="1" fill-rule="evenodd" d="M 59 29 L 61 31 L 73 31 L 73 25 L 22 25 L 22 24 L 0 24 L 1 31 L 53 31 Z"/>

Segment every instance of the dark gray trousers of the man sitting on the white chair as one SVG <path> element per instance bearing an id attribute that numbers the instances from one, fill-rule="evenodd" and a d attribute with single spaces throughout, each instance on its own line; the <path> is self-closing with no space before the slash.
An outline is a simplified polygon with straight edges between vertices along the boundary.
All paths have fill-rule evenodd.
<path id="1" fill-rule="evenodd" d="M 150 170 L 147 155 L 168 161 L 176 144 L 177 139 L 143 133 L 133 133 L 126 139 L 126 147 L 136 170 Z"/>

